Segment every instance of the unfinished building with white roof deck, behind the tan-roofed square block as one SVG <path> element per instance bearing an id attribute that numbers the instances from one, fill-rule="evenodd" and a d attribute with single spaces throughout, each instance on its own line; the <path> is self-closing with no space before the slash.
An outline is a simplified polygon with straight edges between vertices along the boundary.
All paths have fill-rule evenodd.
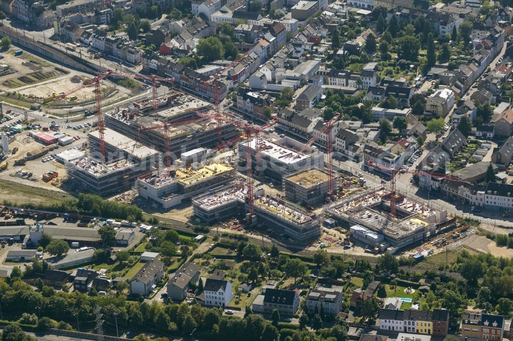
<path id="1" fill-rule="evenodd" d="M 264 139 L 253 138 L 249 143 L 253 168 L 257 167 L 255 153 L 260 152 L 261 167 L 259 172 L 275 181 L 282 182 L 283 177 L 294 173 L 306 171 L 311 168 L 324 169 L 324 154 L 315 147 L 306 147 L 299 153 L 304 144 L 289 137 L 270 142 Z M 239 155 L 246 157 L 246 142 L 239 143 Z"/>

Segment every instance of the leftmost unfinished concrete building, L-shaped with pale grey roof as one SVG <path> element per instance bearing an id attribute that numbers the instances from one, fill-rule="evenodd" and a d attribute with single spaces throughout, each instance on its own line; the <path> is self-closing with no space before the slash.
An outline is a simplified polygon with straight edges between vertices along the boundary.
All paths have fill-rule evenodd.
<path id="1" fill-rule="evenodd" d="M 98 131 L 89 133 L 91 153 L 66 163 L 70 181 L 83 190 L 108 195 L 130 189 L 136 178 L 159 163 L 159 152 L 120 133 L 105 129 L 106 160 L 100 154 Z"/>

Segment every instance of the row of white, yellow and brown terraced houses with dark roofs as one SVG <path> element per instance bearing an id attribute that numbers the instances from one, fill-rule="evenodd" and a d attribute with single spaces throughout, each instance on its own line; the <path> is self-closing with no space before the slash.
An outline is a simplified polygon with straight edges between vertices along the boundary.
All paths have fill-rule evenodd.
<path id="1" fill-rule="evenodd" d="M 376 325 L 380 330 L 445 336 L 449 325 L 449 311 L 447 309 L 432 311 L 380 309 Z"/>

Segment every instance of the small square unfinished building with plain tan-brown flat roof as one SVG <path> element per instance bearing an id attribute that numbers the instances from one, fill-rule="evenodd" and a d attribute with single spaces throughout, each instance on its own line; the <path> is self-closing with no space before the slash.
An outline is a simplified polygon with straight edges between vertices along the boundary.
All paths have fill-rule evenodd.
<path id="1" fill-rule="evenodd" d="M 337 180 L 333 183 L 336 184 Z M 328 173 L 316 168 L 283 178 L 285 197 L 300 205 L 322 204 L 326 200 L 328 187 Z"/>

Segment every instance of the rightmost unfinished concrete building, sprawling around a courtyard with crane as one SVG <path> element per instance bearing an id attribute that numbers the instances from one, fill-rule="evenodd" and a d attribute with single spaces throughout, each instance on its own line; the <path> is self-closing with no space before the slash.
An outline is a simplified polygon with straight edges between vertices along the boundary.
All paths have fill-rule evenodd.
<path id="1" fill-rule="evenodd" d="M 359 225 L 382 235 L 382 248 L 401 249 L 455 227 L 456 219 L 446 210 L 435 210 L 404 196 L 397 198 L 397 217 L 391 218 L 390 197 L 390 191 L 380 186 L 338 201 L 328 212 L 347 227 Z"/>

